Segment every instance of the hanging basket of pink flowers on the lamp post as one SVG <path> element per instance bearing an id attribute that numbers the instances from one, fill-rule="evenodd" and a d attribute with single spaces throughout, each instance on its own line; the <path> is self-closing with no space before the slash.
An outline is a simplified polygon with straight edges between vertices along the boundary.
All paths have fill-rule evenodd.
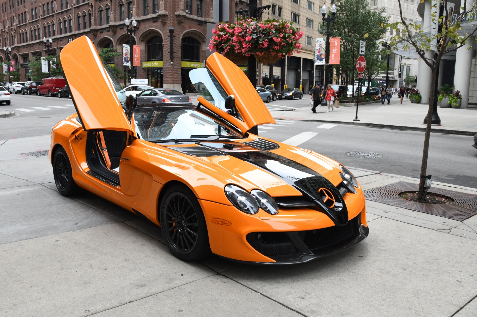
<path id="1" fill-rule="evenodd" d="M 239 17 L 235 23 L 216 25 L 209 50 L 219 52 L 236 64 L 244 63 L 250 55 L 255 55 L 260 63 L 273 64 L 287 55 L 301 52 L 303 32 L 292 24 L 283 20 L 257 21 Z"/>

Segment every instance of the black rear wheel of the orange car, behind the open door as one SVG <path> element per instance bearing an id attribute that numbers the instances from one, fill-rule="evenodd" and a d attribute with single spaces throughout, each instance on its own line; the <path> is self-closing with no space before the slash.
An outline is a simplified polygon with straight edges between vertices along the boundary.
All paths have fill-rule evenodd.
<path id="1" fill-rule="evenodd" d="M 53 155 L 53 178 L 58 192 L 63 196 L 71 196 L 78 192 L 74 182 L 70 159 L 63 148 L 57 149 Z"/>

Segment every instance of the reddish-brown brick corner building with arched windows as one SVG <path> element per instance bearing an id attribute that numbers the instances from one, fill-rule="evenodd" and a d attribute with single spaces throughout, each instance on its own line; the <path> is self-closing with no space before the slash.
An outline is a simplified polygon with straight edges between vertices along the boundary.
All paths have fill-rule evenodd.
<path id="1" fill-rule="evenodd" d="M 217 0 L 216 0 L 217 1 Z M 60 54 L 68 39 L 86 35 L 96 46 L 122 52 L 129 44 L 124 21 L 137 21 L 135 43 L 141 66 L 135 78 L 154 87 L 191 92 L 188 72 L 203 67 L 207 23 L 213 23 L 214 0 L 0 0 L 0 47 L 11 47 L 10 60 L 28 80 L 30 59 L 46 56 L 43 38 L 53 40 L 50 55 Z M 230 0 L 229 14 L 247 8 L 245 0 Z M 172 40 L 171 39 L 172 36 Z M 172 48 L 171 48 L 172 47 Z M 0 50 L 0 62 L 6 60 Z M 112 61 L 113 62 L 113 61 Z M 122 67 L 122 58 L 114 60 Z M 125 67 L 129 71 L 129 67 Z M 193 88 L 192 88 L 193 89 Z"/>

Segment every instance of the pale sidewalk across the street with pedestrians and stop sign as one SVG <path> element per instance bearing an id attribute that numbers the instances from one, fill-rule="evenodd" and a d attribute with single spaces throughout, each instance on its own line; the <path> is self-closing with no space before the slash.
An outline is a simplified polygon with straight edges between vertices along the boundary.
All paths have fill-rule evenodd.
<path id="1" fill-rule="evenodd" d="M 327 112 L 327 107 L 318 107 L 317 114 L 311 113 L 310 107 L 302 107 L 293 112 L 270 111 L 276 119 L 292 119 L 319 121 L 329 123 L 353 124 L 373 128 L 403 129 L 424 131 L 423 120 L 427 115 L 428 105 L 411 103 L 410 99 L 404 99 L 400 104 L 397 96 L 393 96 L 389 105 L 373 103 L 358 107 L 358 119 L 356 107 L 340 104 L 332 112 Z M 452 109 L 437 108 L 441 119 L 441 126 L 433 126 L 432 132 L 461 134 L 473 136 L 477 133 L 477 108 Z"/>

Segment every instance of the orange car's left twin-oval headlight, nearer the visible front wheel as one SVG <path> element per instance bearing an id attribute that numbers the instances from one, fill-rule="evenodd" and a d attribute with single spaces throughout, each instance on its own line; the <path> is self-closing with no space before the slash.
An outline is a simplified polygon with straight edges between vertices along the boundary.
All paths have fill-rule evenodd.
<path id="1" fill-rule="evenodd" d="M 239 186 L 227 185 L 225 187 L 225 195 L 232 205 L 247 214 L 254 215 L 259 212 L 259 208 L 262 208 L 270 215 L 278 214 L 277 203 L 264 191 L 254 189 L 249 193 Z"/>

